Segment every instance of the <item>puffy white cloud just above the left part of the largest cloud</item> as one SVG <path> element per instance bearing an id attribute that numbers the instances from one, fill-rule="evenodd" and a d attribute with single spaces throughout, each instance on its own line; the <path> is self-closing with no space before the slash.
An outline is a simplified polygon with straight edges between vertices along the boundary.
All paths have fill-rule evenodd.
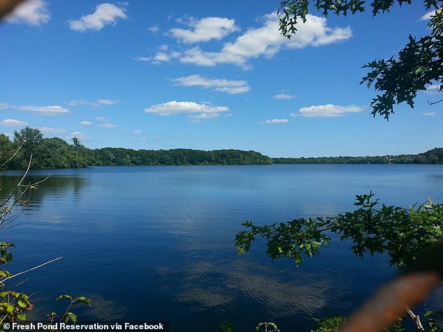
<path id="1" fill-rule="evenodd" d="M 201 20 L 191 17 L 187 25 L 192 29 L 170 29 L 169 32 L 182 43 L 192 44 L 222 39 L 229 33 L 239 30 L 235 26 L 235 20 L 225 17 L 205 17 Z"/>

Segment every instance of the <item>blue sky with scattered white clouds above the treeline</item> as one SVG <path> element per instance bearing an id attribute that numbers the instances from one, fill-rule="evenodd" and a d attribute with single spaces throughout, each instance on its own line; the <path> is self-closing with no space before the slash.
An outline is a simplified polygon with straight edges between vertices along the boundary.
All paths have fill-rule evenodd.
<path id="1" fill-rule="evenodd" d="M 372 117 L 362 66 L 428 34 L 421 3 L 327 18 L 290 40 L 279 1 L 29 0 L 0 23 L 0 133 L 89 148 L 377 156 L 443 146 L 442 98 Z"/>

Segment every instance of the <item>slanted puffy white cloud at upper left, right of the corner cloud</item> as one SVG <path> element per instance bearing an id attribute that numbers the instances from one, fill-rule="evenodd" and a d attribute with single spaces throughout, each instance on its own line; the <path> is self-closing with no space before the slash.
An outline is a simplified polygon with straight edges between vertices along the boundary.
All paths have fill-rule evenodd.
<path id="1" fill-rule="evenodd" d="M 126 19 L 126 6 L 128 3 L 119 3 L 116 6 L 112 3 L 101 3 L 96 6 L 94 13 L 80 17 L 78 20 L 69 21 L 71 30 L 85 32 L 85 31 L 99 31 L 108 24 L 115 25 L 117 20 Z"/>

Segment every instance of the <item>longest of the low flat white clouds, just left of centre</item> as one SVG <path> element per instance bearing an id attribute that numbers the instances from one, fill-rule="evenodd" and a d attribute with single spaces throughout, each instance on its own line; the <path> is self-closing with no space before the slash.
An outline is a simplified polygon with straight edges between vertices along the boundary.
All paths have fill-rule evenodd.
<path id="1" fill-rule="evenodd" d="M 222 112 L 228 112 L 228 107 L 225 106 L 210 106 L 206 104 L 198 104 L 191 101 L 170 101 L 168 103 L 152 105 L 145 109 L 146 113 L 157 115 L 176 115 L 176 114 L 190 114 L 189 118 L 192 120 L 215 119 Z M 199 114 L 194 114 L 199 113 Z"/>

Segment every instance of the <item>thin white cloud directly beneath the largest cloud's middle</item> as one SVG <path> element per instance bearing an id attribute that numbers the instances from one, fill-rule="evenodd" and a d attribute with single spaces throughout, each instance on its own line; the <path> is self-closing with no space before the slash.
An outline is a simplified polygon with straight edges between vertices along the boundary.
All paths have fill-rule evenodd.
<path id="1" fill-rule="evenodd" d="M 224 79 L 207 79 L 200 75 L 189 75 L 172 80 L 181 86 L 202 86 L 204 89 L 212 89 L 231 94 L 245 93 L 251 89 L 246 81 L 228 81 Z"/>

